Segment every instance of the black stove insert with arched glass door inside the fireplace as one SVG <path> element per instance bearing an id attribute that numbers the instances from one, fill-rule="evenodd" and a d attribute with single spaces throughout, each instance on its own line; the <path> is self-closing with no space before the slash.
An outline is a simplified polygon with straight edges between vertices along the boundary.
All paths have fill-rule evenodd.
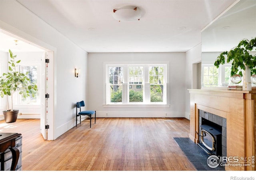
<path id="1" fill-rule="evenodd" d="M 207 154 L 222 155 L 222 126 L 202 118 L 200 125 L 200 136 L 198 145 Z"/>

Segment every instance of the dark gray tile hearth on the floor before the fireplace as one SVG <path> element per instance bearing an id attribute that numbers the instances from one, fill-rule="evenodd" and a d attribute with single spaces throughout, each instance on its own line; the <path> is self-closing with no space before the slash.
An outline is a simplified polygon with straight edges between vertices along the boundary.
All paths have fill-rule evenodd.
<path id="1" fill-rule="evenodd" d="M 174 138 L 181 150 L 186 154 L 190 162 L 198 171 L 224 171 L 224 167 L 210 168 L 207 165 L 207 158 L 209 155 L 190 138 Z"/>

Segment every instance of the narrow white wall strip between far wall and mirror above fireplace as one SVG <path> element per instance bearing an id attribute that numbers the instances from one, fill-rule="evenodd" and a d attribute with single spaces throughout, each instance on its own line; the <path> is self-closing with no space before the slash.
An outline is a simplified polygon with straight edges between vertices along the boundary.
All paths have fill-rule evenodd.
<path id="1" fill-rule="evenodd" d="M 201 44 L 198 44 L 188 52 L 186 52 L 186 112 L 185 117 L 190 119 L 190 94 L 188 89 L 192 88 L 192 65 L 201 62 L 202 48 Z"/>

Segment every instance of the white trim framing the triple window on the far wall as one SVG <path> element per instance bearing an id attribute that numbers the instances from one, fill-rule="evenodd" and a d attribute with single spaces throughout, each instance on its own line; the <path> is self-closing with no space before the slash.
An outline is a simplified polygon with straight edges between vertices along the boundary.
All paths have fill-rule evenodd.
<path id="1" fill-rule="evenodd" d="M 126 72 L 128 73 L 128 66 L 132 66 L 132 65 L 135 65 L 135 66 L 139 66 L 139 65 L 153 65 L 153 66 L 164 66 L 164 70 L 165 70 L 165 79 L 166 79 L 166 85 L 165 85 L 165 90 L 166 90 L 166 102 L 150 102 L 148 104 L 146 104 L 145 102 L 143 103 L 128 103 L 128 102 L 120 102 L 120 103 L 113 103 L 113 104 L 109 104 L 107 103 L 107 98 L 106 98 L 106 94 L 107 94 L 107 86 L 108 84 L 106 82 L 108 82 L 108 76 L 106 74 L 106 72 L 108 72 L 108 66 L 122 66 L 123 65 L 123 68 L 124 68 L 124 71 L 126 70 Z M 169 102 L 169 99 L 168 99 L 168 96 L 169 96 L 169 62 L 166 62 L 166 61 L 161 61 L 161 62 L 158 62 L 156 64 L 154 63 L 148 63 L 146 64 L 145 62 L 104 62 L 103 64 L 104 66 L 104 70 L 103 70 L 103 73 L 104 73 L 104 82 L 105 82 L 105 86 L 104 86 L 104 103 L 102 104 L 102 106 L 104 108 L 167 108 L 167 107 L 170 107 L 170 102 Z M 125 73 L 125 72 L 124 72 Z M 148 76 L 148 75 L 147 75 Z M 146 76 L 144 76 L 144 78 L 146 79 Z M 127 76 L 127 79 L 123 79 L 124 82 L 123 82 L 123 86 L 125 86 L 125 90 L 127 89 L 128 90 L 128 76 Z M 149 83 L 149 77 L 147 77 L 147 80 L 144 81 L 144 84 L 142 84 L 143 86 L 145 86 L 146 83 Z M 126 87 L 127 86 L 127 87 Z"/>

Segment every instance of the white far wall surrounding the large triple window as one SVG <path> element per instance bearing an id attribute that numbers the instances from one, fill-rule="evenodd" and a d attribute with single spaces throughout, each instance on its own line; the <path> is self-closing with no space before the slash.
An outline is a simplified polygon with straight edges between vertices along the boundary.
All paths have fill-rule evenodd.
<path id="1" fill-rule="evenodd" d="M 170 106 L 161 108 L 121 108 L 104 106 L 104 63 L 169 62 Z M 88 54 L 87 109 L 96 110 L 98 117 L 184 117 L 185 116 L 185 53 L 89 53 Z"/>

